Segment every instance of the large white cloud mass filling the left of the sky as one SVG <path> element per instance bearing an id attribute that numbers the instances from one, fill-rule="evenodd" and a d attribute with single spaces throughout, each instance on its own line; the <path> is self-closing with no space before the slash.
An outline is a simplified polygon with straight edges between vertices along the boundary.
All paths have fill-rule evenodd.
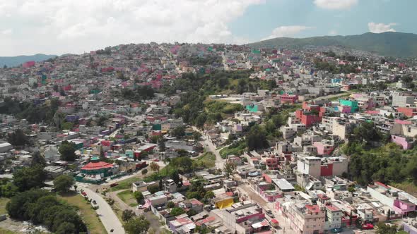
<path id="1" fill-rule="evenodd" d="M 266 0 L 0 0 L 1 55 L 82 53 L 146 42 L 245 42 L 228 24 Z"/>

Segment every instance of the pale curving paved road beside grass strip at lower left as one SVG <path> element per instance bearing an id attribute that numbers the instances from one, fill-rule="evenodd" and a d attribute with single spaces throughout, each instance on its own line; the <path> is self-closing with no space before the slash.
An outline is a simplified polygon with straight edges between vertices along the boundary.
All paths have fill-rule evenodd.
<path id="1" fill-rule="evenodd" d="M 78 184 L 77 184 L 78 185 Z M 114 214 L 114 211 L 112 210 L 112 207 L 110 207 L 109 204 L 103 199 L 100 195 L 90 190 L 88 187 L 84 187 L 84 185 L 79 184 L 78 187 L 82 187 L 84 192 L 87 193 L 88 198 L 95 200 L 98 205 L 98 209 L 96 210 L 98 216 L 100 217 L 100 220 L 105 226 L 107 233 L 110 233 L 110 230 L 113 229 L 114 234 L 123 234 L 124 228 L 122 226 L 122 223 L 119 221 L 119 218 L 117 218 L 116 214 Z"/>

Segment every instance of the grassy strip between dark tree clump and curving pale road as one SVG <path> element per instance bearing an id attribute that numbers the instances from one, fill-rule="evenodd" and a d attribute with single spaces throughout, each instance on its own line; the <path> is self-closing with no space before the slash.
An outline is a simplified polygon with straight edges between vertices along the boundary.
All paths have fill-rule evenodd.
<path id="1" fill-rule="evenodd" d="M 87 204 L 86 200 L 81 197 L 81 195 L 66 195 L 60 197 L 60 199 L 74 207 L 78 207 L 81 218 L 83 218 L 90 233 L 107 233 L 100 218 L 98 218 L 97 213 L 95 213 L 95 210 L 91 208 L 90 204 Z"/>

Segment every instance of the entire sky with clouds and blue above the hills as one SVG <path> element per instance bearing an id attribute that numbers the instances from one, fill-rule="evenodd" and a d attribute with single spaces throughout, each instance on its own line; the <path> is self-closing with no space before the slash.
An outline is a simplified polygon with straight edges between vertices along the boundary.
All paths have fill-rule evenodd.
<path id="1" fill-rule="evenodd" d="M 0 0 L 0 56 L 148 42 L 417 34 L 415 0 Z"/>

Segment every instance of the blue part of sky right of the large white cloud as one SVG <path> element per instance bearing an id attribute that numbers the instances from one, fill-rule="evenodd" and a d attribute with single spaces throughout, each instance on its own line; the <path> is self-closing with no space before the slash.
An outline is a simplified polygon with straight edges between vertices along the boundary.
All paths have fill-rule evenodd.
<path id="1" fill-rule="evenodd" d="M 341 8 L 320 7 L 312 0 L 267 0 L 249 6 L 230 23 L 230 31 L 237 37 L 255 41 L 269 37 L 276 27 L 290 25 L 310 27 L 290 37 L 358 35 L 370 32 L 368 23 L 373 22 L 392 23 L 388 29 L 397 32 L 417 33 L 416 8 L 417 1 L 413 0 L 361 0 Z"/>

